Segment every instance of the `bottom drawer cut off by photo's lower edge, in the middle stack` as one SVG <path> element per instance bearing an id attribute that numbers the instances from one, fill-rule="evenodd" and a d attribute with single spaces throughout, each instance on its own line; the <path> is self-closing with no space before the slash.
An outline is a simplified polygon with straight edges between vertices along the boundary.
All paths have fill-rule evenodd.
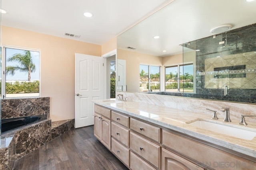
<path id="1" fill-rule="evenodd" d="M 131 170 L 156 170 L 133 152 L 130 152 Z"/>

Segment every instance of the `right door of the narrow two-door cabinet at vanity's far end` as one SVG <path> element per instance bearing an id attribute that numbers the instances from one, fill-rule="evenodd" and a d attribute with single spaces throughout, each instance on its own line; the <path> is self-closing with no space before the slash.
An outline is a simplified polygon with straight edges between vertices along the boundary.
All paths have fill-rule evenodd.
<path id="1" fill-rule="evenodd" d="M 101 119 L 101 142 L 109 150 L 111 149 L 111 123 L 103 116 Z"/>

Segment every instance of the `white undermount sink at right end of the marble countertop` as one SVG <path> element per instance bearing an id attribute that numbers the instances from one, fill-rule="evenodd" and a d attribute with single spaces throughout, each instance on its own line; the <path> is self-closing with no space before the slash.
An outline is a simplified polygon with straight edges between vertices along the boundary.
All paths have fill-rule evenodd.
<path id="1" fill-rule="evenodd" d="M 191 123 L 187 123 L 189 125 L 199 127 L 202 129 L 206 129 L 209 131 L 213 131 L 216 133 L 221 133 L 223 135 L 228 135 L 232 137 L 237 137 L 240 139 L 245 139 L 251 141 L 256 136 L 256 131 L 250 131 L 249 129 L 245 129 L 246 127 L 233 127 L 230 125 L 220 124 L 220 122 L 211 122 L 206 120 L 196 120 Z M 235 126 L 235 125 L 234 125 Z"/>

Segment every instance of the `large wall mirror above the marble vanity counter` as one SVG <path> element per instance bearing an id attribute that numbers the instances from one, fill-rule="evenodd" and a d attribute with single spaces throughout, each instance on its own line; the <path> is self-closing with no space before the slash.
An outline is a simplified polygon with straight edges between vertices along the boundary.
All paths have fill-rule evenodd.
<path id="1" fill-rule="evenodd" d="M 117 91 L 256 103 L 255 8 L 174 0 L 117 37 Z"/>

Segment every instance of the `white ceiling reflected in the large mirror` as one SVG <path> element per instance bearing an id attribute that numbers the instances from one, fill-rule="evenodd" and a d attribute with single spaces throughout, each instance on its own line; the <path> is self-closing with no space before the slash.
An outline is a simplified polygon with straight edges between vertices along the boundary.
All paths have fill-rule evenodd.
<path id="1" fill-rule="evenodd" d="M 256 0 L 175 0 L 118 36 L 118 48 L 131 46 L 136 48 L 132 51 L 165 57 L 182 53 L 180 44 L 214 35 L 213 27 L 231 24 L 236 29 L 252 23 Z"/>

